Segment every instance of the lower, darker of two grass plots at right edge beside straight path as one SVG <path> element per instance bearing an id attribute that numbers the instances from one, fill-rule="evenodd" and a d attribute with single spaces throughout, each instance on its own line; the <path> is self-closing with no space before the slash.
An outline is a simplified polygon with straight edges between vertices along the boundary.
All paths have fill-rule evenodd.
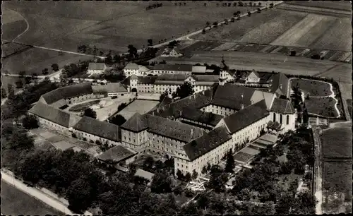
<path id="1" fill-rule="evenodd" d="M 323 162 L 323 188 L 345 194 L 352 201 L 352 162 Z"/>

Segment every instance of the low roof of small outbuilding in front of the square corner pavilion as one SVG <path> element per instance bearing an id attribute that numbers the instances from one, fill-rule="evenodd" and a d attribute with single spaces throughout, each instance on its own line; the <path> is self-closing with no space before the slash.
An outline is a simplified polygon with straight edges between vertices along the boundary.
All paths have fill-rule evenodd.
<path id="1" fill-rule="evenodd" d="M 109 150 L 103 152 L 102 155 L 97 158 L 102 161 L 120 162 L 121 160 L 125 160 L 136 154 L 136 152 L 133 152 L 122 145 L 116 145 L 113 148 L 109 148 Z"/>

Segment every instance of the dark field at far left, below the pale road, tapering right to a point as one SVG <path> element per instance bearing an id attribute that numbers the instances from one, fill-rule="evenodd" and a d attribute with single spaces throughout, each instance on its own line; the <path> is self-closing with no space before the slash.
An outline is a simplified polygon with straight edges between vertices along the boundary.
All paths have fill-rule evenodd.
<path id="1" fill-rule="evenodd" d="M 92 59 L 92 57 L 68 53 L 59 56 L 59 53 L 56 51 L 31 48 L 25 52 L 9 56 L 3 59 L 1 63 L 3 70 L 8 71 L 8 73 L 26 71 L 27 75 L 37 73 L 40 76 L 44 68 L 48 68 L 49 73 L 53 73 L 51 70 L 52 64 L 58 64 L 59 68 L 61 68 L 66 64 L 77 63 L 79 60 L 84 61 L 87 59 Z"/>

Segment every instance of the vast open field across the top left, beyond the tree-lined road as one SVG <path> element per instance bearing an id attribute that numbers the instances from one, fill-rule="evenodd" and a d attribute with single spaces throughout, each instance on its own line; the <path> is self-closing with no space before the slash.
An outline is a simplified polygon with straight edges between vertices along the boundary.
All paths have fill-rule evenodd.
<path id="1" fill-rule="evenodd" d="M 160 40 L 180 37 L 205 27 L 206 21 L 222 21 L 231 17 L 234 10 L 244 12 L 250 9 L 217 6 L 216 2 L 207 2 L 207 6 L 203 6 L 203 2 L 196 1 L 187 1 L 186 6 L 174 6 L 172 1 L 163 1 L 162 7 L 146 11 L 149 4 L 142 1 L 104 1 L 99 4 L 57 1 L 29 5 L 21 1 L 5 2 L 4 7 L 18 11 L 28 20 L 30 28 L 18 38 L 18 42 L 68 51 L 76 51 L 78 44 L 90 44 L 98 49 L 118 52 L 126 52 L 128 44 L 140 49 L 147 45 L 149 38 L 156 44 Z"/>

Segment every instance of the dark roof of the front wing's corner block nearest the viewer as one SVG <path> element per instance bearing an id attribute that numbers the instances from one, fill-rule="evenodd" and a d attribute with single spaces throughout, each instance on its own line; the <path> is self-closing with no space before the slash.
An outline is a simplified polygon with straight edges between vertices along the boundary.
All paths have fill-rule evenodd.
<path id="1" fill-rule="evenodd" d="M 219 126 L 208 133 L 204 133 L 203 136 L 192 140 L 183 146 L 186 155 L 189 160 L 195 160 L 196 158 L 204 155 L 205 153 L 217 148 L 222 143 L 230 140 L 232 136 L 228 133 L 225 126 Z"/>

